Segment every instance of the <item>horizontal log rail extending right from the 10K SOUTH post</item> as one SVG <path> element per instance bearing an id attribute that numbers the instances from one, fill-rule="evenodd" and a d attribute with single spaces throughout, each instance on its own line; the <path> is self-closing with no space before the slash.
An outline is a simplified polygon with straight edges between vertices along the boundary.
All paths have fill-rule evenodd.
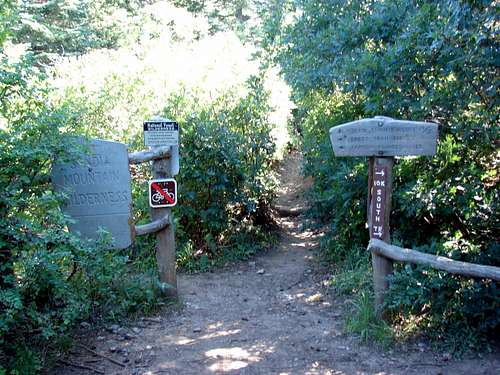
<path id="1" fill-rule="evenodd" d="M 420 251 L 389 245 L 377 239 L 370 240 L 368 250 L 377 255 L 399 262 L 422 264 L 458 275 L 500 281 L 500 267 L 484 266 L 481 264 L 461 262 L 442 256 L 424 254 Z"/>

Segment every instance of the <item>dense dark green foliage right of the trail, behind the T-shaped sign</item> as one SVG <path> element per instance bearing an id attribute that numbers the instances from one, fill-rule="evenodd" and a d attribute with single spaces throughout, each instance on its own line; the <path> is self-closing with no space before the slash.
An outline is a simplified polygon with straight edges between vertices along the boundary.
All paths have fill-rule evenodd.
<path id="1" fill-rule="evenodd" d="M 315 212 L 332 223 L 330 254 L 343 259 L 367 242 L 366 162 L 334 159 L 328 129 L 385 115 L 440 125 L 435 157 L 397 162 L 393 242 L 498 266 L 498 4 L 302 0 L 272 7 L 282 11 L 270 15 L 263 43 L 299 104 Z M 498 297 L 490 280 L 398 266 L 388 304 L 419 315 L 437 336 L 475 339 L 498 328 Z"/>

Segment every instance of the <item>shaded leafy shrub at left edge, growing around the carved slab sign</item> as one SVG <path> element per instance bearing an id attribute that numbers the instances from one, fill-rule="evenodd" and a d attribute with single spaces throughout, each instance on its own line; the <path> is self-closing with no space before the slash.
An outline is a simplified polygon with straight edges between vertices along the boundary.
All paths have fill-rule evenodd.
<path id="1" fill-rule="evenodd" d="M 48 104 L 30 59 L 2 54 L 0 65 L 0 372 L 28 374 L 82 320 L 155 308 L 161 285 L 130 275 L 121 252 L 67 231 L 50 168 L 74 160 L 78 118 Z"/>

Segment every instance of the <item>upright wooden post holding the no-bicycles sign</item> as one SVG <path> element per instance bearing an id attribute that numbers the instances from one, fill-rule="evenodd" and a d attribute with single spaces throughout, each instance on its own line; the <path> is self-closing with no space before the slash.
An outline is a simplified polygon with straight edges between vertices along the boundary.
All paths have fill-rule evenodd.
<path id="1" fill-rule="evenodd" d="M 152 162 L 153 179 L 172 177 L 172 158 L 154 159 Z M 156 262 L 160 281 L 167 283 L 171 288 L 165 293 L 177 297 L 177 274 L 175 270 L 175 235 L 174 218 L 171 208 L 152 208 L 153 221 L 168 217 L 169 225 L 156 233 Z"/>

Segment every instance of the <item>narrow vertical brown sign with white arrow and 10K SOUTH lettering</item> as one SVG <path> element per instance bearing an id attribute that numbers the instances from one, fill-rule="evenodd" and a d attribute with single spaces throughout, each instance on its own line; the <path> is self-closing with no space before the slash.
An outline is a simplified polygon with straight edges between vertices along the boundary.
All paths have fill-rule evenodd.
<path id="1" fill-rule="evenodd" d="M 385 197 L 387 189 L 387 168 L 375 165 L 371 202 L 370 238 L 382 239 L 385 227 Z"/>

